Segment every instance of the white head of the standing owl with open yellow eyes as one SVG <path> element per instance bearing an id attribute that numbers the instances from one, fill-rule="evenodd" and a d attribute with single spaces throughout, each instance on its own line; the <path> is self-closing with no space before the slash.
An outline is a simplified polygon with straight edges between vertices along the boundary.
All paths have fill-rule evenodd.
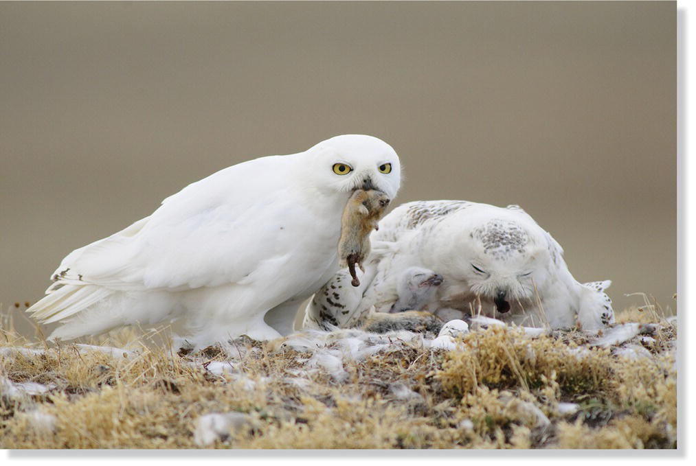
<path id="1" fill-rule="evenodd" d="M 323 140 L 306 152 L 312 159 L 313 184 L 322 191 L 351 193 L 377 189 L 393 199 L 401 186 L 401 163 L 383 140 L 344 134 Z"/>

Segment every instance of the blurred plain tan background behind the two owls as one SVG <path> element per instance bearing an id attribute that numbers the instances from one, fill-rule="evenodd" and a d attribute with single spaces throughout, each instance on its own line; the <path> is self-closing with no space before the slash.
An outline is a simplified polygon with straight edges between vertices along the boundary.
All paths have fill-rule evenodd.
<path id="1" fill-rule="evenodd" d="M 521 204 L 615 307 L 677 288 L 675 2 L 0 3 L 0 303 L 234 163 L 336 134 L 400 202 Z"/>

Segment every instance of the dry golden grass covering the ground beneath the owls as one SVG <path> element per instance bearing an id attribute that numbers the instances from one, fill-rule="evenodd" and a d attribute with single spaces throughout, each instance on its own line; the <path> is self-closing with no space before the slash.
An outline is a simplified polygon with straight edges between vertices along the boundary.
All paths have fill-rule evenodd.
<path id="1" fill-rule="evenodd" d="M 580 332 L 530 338 L 491 328 L 466 335 L 457 351 L 400 343 L 344 360 L 340 383 L 305 371 L 309 356 L 277 342 L 239 340 L 234 370 L 219 373 L 208 363 L 230 355 L 175 355 L 157 333 L 93 342 L 135 351 L 111 355 L 29 344 L 6 321 L 1 346 L 45 351 L 3 350 L 0 378 L 49 389 L 0 385 L 1 447 L 197 448 L 198 417 L 242 412 L 244 423 L 207 447 L 675 448 L 677 330 L 638 310 L 619 321 L 638 314 L 662 324 L 654 341 L 631 342 L 645 357 L 590 348 Z"/>

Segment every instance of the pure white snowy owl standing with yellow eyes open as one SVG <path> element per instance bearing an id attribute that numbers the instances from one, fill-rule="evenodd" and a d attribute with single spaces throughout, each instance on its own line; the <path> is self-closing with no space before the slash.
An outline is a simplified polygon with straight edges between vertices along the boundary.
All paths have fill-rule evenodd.
<path id="1" fill-rule="evenodd" d="M 196 347 L 292 331 L 299 303 L 338 271 L 352 191 L 393 198 L 400 161 L 372 136 L 336 136 L 190 184 L 152 215 L 74 250 L 29 312 L 52 338 L 180 319 Z"/>

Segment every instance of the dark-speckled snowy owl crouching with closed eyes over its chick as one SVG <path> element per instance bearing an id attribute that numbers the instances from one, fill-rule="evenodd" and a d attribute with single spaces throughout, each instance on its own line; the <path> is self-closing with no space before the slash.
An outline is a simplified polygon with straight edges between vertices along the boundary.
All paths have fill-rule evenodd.
<path id="1" fill-rule="evenodd" d="M 404 271 L 413 267 L 442 276 L 428 310 L 448 318 L 480 313 L 525 326 L 586 330 L 614 321 L 604 293 L 611 282 L 577 282 L 560 245 L 518 206 L 409 202 L 383 218 L 371 240 L 374 254 L 361 287 L 339 289 L 345 272 L 337 273 L 308 305 L 308 324 L 333 319 L 348 326 L 373 306 L 389 312 L 403 300 Z M 333 305 L 327 290 L 335 293 Z"/>

